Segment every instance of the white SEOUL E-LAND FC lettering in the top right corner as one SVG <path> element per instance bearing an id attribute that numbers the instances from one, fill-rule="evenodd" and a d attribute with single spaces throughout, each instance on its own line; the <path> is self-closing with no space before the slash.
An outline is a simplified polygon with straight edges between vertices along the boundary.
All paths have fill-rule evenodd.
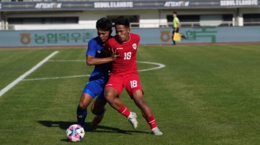
<path id="1" fill-rule="evenodd" d="M 223 0 L 220 6 L 258 6 L 258 0 Z"/>

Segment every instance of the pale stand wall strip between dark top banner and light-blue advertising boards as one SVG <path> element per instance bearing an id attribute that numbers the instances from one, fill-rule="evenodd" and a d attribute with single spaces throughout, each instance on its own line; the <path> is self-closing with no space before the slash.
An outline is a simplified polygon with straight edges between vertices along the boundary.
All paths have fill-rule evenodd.
<path id="1" fill-rule="evenodd" d="M 171 10 L 87 10 L 87 11 L 44 11 L 44 12 L 3 12 L 8 18 L 19 17 L 78 17 L 79 24 L 95 28 L 96 19 L 107 16 L 138 15 L 140 28 L 159 28 L 167 23 L 166 16 L 177 11 L 178 14 L 233 14 L 233 26 L 243 26 L 243 14 L 260 13 L 260 8 L 211 8 L 211 9 L 171 9 Z M 180 19 L 182 22 L 182 19 Z M 215 21 L 212 21 L 215 22 Z M 46 24 L 45 24 L 46 25 Z M 75 26 L 76 28 L 77 26 Z M 78 29 L 83 29 L 78 26 Z"/>

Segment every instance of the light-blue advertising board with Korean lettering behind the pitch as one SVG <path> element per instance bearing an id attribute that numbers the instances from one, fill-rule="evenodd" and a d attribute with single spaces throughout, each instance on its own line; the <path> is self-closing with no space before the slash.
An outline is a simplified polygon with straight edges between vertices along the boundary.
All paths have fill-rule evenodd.
<path id="1" fill-rule="evenodd" d="M 140 35 L 140 44 L 171 44 L 171 28 L 132 28 Z M 260 42 L 260 26 L 182 28 L 187 39 L 179 43 Z M 114 35 L 114 32 L 113 34 Z M 96 30 L 26 30 L 0 31 L 0 48 L 87 46 Z"/>

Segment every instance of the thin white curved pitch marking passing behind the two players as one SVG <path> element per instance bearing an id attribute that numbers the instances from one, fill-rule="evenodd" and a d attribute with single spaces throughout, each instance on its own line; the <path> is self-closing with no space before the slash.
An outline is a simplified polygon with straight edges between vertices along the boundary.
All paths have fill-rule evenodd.
<path id="1" fill-rule="evenodd" d="M 76 62 L 76 61 L 85 61 L 85 60 L 49 60 L 49 61 L 56 61 L 56 62 Z M 144 72 L 148 70 L 156 70 L 159 68 L 164 68 L 164 64 L 159 64 L 155 62 L 148 62 L 148 61 L 137 61 L 137 63 L 142 63 L 142 64 L 154 64 L 157 65 L 158 67 L 155 68 L 148 68 L 144 70 L 138 70 L 139 72 Z M 36 80 L 44 80 L 44 79 L 66 79 L 66 78 L 73 78 L 73 77 L 89 77 L 90 75 L 74 75 L 74 76 L 68 76 L 68 77 L 45 77 L 45 78 L 35 78 L 35 79 L 23 79 L 22 81 L 36 81 Z"/>

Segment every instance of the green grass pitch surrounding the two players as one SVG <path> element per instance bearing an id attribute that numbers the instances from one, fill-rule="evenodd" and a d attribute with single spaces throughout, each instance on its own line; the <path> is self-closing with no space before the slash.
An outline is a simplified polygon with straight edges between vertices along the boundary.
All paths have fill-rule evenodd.
<path id="1" fill-rule="evenodd" d="M 51 60 L 84 60 L 85 48 L 2 49 L 0 90 L 58 50 Z M 150 128 L 125 90 L 121 99 L 139 126 L 107 105 L 101 124 L 89 111 L 76 144 L 259 144 L 260 45 L 140 46 L 137 61 L 164 64 L 139 72 L 162 136 Z M 158 67 L 137 63 L 139 70 Z M 25 79 L 89 75 L 85 61 L 46 61 Z M 88 77 L 19 81 L 0 97 L 0 144 L 71 144 L 76 107 Z"/>

